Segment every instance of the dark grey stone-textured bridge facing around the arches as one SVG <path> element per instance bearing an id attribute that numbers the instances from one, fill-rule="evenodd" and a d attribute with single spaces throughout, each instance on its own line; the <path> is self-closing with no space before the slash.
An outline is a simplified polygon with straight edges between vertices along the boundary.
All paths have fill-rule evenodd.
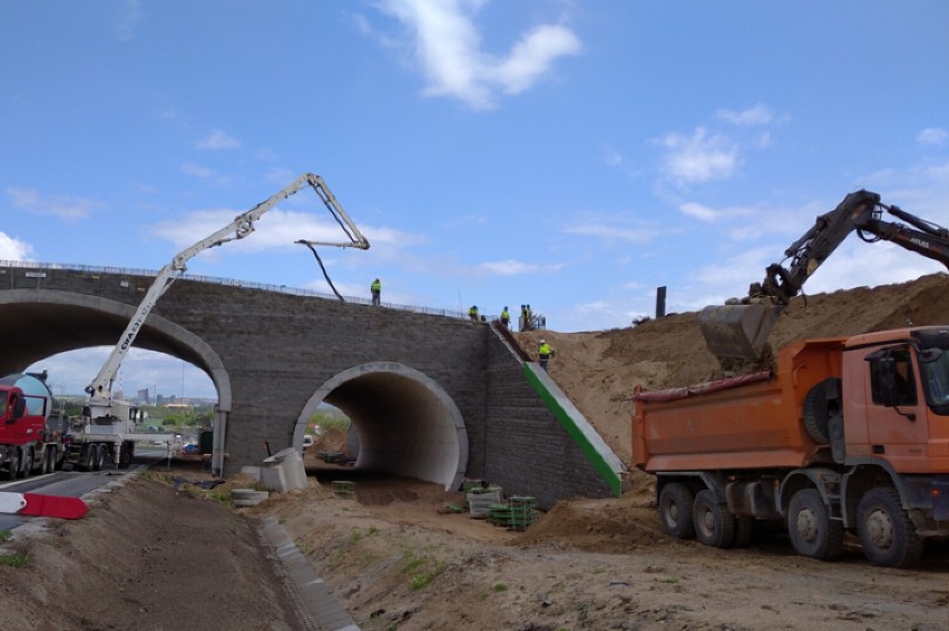
<path id="1" fill-rule="evenodd" d="M 98 306 L 130 315 L 153 279 L 121 270 L 0 267 L 0 325 L 11 344 L 21 345 L 10 356 L 26 362 L 12 368 L 55 352 L 114 344 L 128 317 L 99 313 Z M 4 300 L 4 290 L 16 292 L 8 295 L 14 304 Z M 77 306 L 43 310 L 43 302 L 69 303 L 70 296 Z M 31 309 L 42 317 L 28 324 Z M 37 355 L 17 327 L 35 331 L 45 322 L 43 335 L 53 341 Z M 169 341 L 168 327 L 158 331 L 164 323 L 189 336 Z M 194 351 L 190 336 L 206 344 L 204 354 Z M 184 278 L 156 304 L 136 345 L 172 353 L 209 374 L 213 367 L 202 365 L 202 357 L 219 361 L 214 375 L 227 383 L 218 390 L 229 386 L 231 394 L 225 474 L 260 464 L 267 443 L 273 452 L 290 446 L 307 401 L 334 375 L 391 362 L 423 373 L 457 405 L 468 434 L 469 477 L 536 496 L 541 507 L 560 497 L 609 494 L 526 382 L 518 359 L 485 324 Z"/>

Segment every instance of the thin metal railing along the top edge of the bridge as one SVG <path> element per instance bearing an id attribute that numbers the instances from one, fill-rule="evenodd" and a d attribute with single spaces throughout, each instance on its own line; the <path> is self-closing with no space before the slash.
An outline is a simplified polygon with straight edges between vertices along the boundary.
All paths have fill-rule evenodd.
<path id="1" fill-rule="evenodd" d="M 22 269 L 66 269 L 69 272 L 87 272 L 89 274 L 125 274 L 127 276 L 157 276 L 156 269 L 139 269 L 135 267 L 101 267 L 96 265 L 65 264 L 65 263 L 37 263 L 28 260 L 0 260 L 0 267 L 19 267 Z M 183 274 L 180 276 L 187 280 L 196 283 L 211 283 L 214 285 L 225 285 L 228 287 L 241 287 L 244 289 L 262 289 L 264 292 L 276 292 L 280 294 L 291 294 L 294 296 L 305 296 L 310 298 L 322 298 L 326 300 L 337 300 L 336 296 L 314 292 L 313 289 L 303 289 L 300 287 L 287 287 L 286 285 L 274 285 L 268 283 L 252 283 L 250 280 L 237 280 L 234 278 L 221 278 L 217 276 L 203 276 L 199 274 Z M 348 303 L 358 305 L 371 305 L 369 298 L 358 296 L 345 296 Z M 382 306 L 390 309 L 399 309 L 424 315 L 437 315 L 443 317 L 452 317 L 458 319 L 467 319 L 468 314 L 454 312 L 451 309 L 440 309 L 434 307 L 422 307 L 418 305 L 398 305 L 394 303 L 382 303 Z"/>

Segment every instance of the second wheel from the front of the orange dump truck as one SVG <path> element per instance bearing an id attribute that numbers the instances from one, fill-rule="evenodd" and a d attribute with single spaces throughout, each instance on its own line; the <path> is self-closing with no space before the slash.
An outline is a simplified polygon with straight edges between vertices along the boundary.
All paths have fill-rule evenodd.
<path id="1" fill-rule="evenodd" d="M 830 519 L 821 493 L 804 489 L 787 507 L 787 534 L 794 550 L 811 559 L 837 559 L 843 552 L 843 522 Z"/>

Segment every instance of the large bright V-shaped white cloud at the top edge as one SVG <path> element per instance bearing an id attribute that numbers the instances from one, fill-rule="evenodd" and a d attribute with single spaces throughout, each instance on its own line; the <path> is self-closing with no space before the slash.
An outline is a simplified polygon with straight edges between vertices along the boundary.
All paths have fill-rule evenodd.
<path id="1" fill-rule="evenodd" d="M 496 92 L 529 89 L 550 72 L 560 57 L 579 55 L 573 31 L 540 24 L 525 33 L 506 57 L 481 50 L 472 13 L 483 0 L 384 0 L 380 8 L 395 17 L 414 38 L 413 57 L 421 65 L 424 93 L 459 99 L 476 110 L 495 107 Z M 358 22 L 365 28 L 365 22 Z"/>

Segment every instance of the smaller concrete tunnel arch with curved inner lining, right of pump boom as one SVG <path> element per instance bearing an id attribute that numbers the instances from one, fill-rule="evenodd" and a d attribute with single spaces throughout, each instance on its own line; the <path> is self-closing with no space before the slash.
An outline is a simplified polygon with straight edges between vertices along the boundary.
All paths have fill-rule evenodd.
<path id="1" fill-rule="evenodd" d="M 301 448 L 321 403 L 342 410 L 359 434 L 358 467 L 457 489 L 468 469 L 468 431 L 451 396 L 428 375 L 394 362 L 337 373 L 303 407 L 293 444 Z"/>

